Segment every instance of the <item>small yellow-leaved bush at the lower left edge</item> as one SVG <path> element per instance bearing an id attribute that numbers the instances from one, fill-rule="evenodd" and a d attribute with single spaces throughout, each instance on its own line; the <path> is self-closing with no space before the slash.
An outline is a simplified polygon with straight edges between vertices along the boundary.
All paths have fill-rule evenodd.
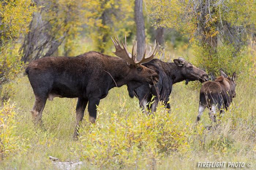
<path id="1" fill-rule="evenodd" d="M 17 123 L 14 108 L 15 104 L 10 104 L 8 100 L 0 110 L 0 161 L 10 154 L 22 154 L 29 148 L 26 139 L 15 134 Z"/>

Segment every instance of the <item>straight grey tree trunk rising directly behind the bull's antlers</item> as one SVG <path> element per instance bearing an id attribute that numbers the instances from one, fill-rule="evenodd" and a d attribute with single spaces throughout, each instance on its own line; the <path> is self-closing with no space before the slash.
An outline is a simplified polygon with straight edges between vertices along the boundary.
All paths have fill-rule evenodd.
<path id="1" fill-rule="evenodd" d="M 145 23 L 143 17 L 143 0 L 135 0 L 135 22 L 136 22 L 136 39 L 137 43 L 137 60 L 141 60 L 146 48 Z"/>

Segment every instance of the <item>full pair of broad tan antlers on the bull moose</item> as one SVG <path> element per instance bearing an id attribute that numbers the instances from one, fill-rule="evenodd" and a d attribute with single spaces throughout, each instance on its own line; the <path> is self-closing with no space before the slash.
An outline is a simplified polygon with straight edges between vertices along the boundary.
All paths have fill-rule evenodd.
<path id="1" fill-rule="evenodd" d="M 117 35 L 116 35 L 117 36 Z M 132 54 L 129 53 L 127 51 L 127 45 L 126 45 L 126 35 L 125 35 L 125 41 L 123 43 L 123 40 L 122 40 L 123 37 L 121 37 L 121 42 L 123 44 L 123 48 L 118 40 L 118 36 L 117 36 L 117 39 L 116 37 L 114 36 L 114 39 L 116 41 L 113 41 L 114 43 L 114 46 L 116 47 L 116 52 L 112 51 L 116 56 L 124 59 L 127 63 L 129 64 L 132 64 L 132 65 L 138 65 L 138 64 L 141 64 L 141 63 L 146 63 L 146 62 L 149 62 L 150 60 L 152 60 L 154 58 L 154 56 L 157 54 L 157 45 L 156 45 L 156 42 L 155 42 L 155 46 L 154 46 L 154 50 L 151 51 L 151 47 L 150 47 L 150 52 L 148 53 L 148 55 L 146 56 L 146 49 L 144 51 L 144 55 L 143 55 L 143 58 L 142 60 L 140 60 L 139 62 L 136 60 L 136 51 L 137 51 L 137 41 L 136 41 L 136 45 L 135 45 L 135 41 L 133 43 L 133 47 L 132 47 Z M 125 44 L 125 45 L 124 45 Z M 135 49 L 134 49 L 134 46 L 135 46 Z M 147 47 L 147 46 L 146 46 Z M 135 52 L 134 52 L 135 51 Z M 133 54 L 134 52 L 134 54 Z M 145 57 L 146 56 L 146 57 Z"/>

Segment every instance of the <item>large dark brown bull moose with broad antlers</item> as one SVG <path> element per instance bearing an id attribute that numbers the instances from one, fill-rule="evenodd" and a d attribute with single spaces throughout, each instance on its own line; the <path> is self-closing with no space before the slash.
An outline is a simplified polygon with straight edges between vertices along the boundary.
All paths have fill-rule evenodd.
<path id="1" fill-rule="evenodd" d="M 87 103 L 90 122 L 95 123 L 99 101 L 108 95 L 111 88 L 126 84 L 132 93 L 143 83 L 158 83 L 158 74 L 141 64 L 154 58 L 158 50 L 156 43 L 153 50 L 150 47 L 147 55 L 145 50 L 142 60 L 137 61 L 137 42 L 136 45 L 133 43 L 131 54 L 127 51 L 126 35 L 125 44 L 121 39 L 123 48 L 118 36 L 114 39 L 116 52 L 112 52 L 119 58 L 90 51 L 76 57 L 44 57 L 27 66 L 26 73 L 35 95 L 31 110 L 35 124 L 43 125 L 42 112 L 47 98 L 78 98 L 73 135 L 76 138 Z"/>

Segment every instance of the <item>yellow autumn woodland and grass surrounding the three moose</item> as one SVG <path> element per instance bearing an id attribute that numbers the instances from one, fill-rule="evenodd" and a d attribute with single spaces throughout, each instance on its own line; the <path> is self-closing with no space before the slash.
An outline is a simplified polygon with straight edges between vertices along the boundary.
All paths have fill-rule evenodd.
<path id="1" fill-rule="evenodd" d="M 77 168 L 86 169 L 195 169 L 199 160 L 224 159 L 256 165 L 255 12 L 253 0 L 1 1 L 0 168 L 51 169 L 56 165 L 49 156 L 62 162 L 80 160 L 83 165 Z M 88 51 L 113 55 L 110 37 L 125 34 L 130 51 L 138 40 L 138 59 L 156 39 L 157 58 L 165 62 L 183 57 L 206 71 L 210 80 L 219 70 L 237 72 L 238 97 L 216 130 L 203 128 L 210 123 L 207 114 L 194 125 L 202 86 L 198 82 L 176 84 L 172 112 L 159 104 L 150 116 L 143 115 L 137 99 L 128 98 L 125 87 L 114 88 L 101 101 L 95 125 L 85 114 L 78 141 L 71 139 L 77 99 L 47 102 L 47 131 L 34 127 L 26 64 Z"/>

